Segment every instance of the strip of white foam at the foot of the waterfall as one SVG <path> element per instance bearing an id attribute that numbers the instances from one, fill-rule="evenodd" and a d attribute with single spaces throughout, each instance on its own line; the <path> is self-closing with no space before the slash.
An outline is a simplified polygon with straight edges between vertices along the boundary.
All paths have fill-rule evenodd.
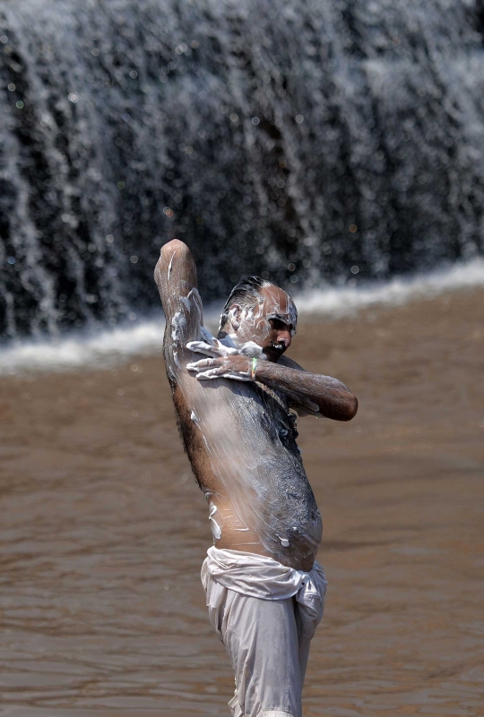
<path id="1" fill-rule="evenodd" d="M 411 277 L 394 277 L 367 286 L 327 286 L 296 295 L 301 320 L 319 314 L 322 320 L 354 315 L 371 306 L 395 306 L 432 299 L 459 289 L 484 286 L 484 260 L 476 259 Z M 220 305 L 205 311 L 205 323 L 217 329 Z M 138 320 L 135 325 L 97 332 L 79 332 L 59 339 L 44 338 L 11 343 L 0 350 L 0 376 L 42 371 L 108 369 L 133 356 L 161 355 L 164 321 Z"/>

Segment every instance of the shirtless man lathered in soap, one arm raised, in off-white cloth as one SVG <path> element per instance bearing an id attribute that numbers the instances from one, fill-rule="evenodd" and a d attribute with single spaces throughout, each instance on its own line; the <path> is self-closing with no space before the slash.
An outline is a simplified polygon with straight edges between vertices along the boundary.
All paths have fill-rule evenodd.
<path id="1" fill-rule="evenodd" d="M 203 328 L 186 244 L 163 246 L 155 278 L 179 427 L 209 506 L 213 547 L 202 581 L 235 670 L 229 706 L 233 717 L 301 717 L 326 581 L 315 562 L 321 516 L 290 408 L 349 421 L 357 399 L 340 381 L 283 355 L 298 313 L 269 281 L 249 277 L 235 286 L 216 339 Z"/>

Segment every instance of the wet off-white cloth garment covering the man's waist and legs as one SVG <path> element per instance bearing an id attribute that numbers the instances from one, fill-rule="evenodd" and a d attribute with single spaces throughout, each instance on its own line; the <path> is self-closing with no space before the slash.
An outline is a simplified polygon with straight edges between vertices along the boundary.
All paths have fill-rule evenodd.
<path id="1" fill-rule="evenodd" d="M 326 579 L 272 558 L 210 548 L 202 583 L 212 627 L 227 649 L 233 717 L 301 717 L 301 692 Z"/>

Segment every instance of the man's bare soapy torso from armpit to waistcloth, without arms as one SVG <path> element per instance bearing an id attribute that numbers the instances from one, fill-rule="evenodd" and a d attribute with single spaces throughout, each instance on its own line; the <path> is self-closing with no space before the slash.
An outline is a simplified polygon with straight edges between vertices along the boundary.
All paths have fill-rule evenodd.
<path id="1" fill-rule="evenodd" d="M 187 448 L 215 545 L 310 569 L 321 516 L 283 405 L 249 382 L 188 376 L 180 388 L 192 429 L 202 438 L 196 456 Z M 200 460 L 200 450 L 206 459 Z"/>

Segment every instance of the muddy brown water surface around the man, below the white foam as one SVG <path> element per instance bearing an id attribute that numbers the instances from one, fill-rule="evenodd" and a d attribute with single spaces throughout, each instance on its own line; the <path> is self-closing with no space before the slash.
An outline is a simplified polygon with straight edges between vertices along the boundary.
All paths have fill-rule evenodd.
<path id="1" fill-rule="evenodd" d="M 484 715 L 484 292 L 306 322 L 359 397 L 299 421 L 330 581 L 305 717 Z M 207 509 L 160 359 L 0 381 L 0 714 L 228 715 Z"/>

